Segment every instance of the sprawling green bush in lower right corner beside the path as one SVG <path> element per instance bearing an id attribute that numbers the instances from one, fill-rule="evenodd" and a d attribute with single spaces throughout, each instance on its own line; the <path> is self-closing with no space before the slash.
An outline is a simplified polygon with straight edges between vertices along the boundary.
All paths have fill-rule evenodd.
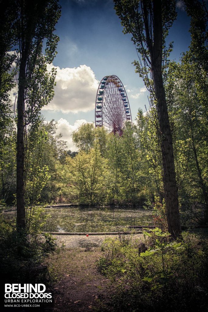
<path id="1" fill-rule="evenodd" d="M 183 233 L 182 241 L 170 241 L 160 229 L 144 232 L 151 245 L 141 252 L 138 241 L 123 245 L 104 241 L 99 271 L 112 280 L 111 300 L 98 301 L 102 312 L 207 311 L 208 245 Z M 152 245 L 154 242 L 154 245 Z"/>

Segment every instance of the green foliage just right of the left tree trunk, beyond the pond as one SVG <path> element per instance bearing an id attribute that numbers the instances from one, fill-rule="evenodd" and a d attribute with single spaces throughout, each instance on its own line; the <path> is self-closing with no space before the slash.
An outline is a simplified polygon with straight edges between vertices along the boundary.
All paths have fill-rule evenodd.
<path id="1" fill-rule="evenodd" d="M 28 205 L 56 200 L 60 191 L 59 170 L 65 163 L 66 144 L 56 135 L 56 122 L 39 121 L 28 134 L 26 195 Z"/>

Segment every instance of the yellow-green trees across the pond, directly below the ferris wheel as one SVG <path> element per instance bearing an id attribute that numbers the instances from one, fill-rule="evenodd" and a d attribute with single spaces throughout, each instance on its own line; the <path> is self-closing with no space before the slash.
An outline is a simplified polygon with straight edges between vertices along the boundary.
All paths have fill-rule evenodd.
<path id="1" fill-rule="evenodd" d="M 128 122 L 121 137 L 91 124 L 80 126 L 72 136 L 80 151 L 66 158 L 62 193 L 81 203 L 143 205 L 150 200 L 151 182 L 143 173 L 136 131 Z"/>

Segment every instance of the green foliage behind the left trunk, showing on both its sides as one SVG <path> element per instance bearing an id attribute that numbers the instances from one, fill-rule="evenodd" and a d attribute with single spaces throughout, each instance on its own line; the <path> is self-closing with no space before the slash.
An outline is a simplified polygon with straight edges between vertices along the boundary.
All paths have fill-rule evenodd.
<path id="1" fill-rule="evenodd" d="M 62 134 L 56 134 L 57 122 L 39 119 L 27 132 L 25 155 L 25 203 L 27 207 L 57 201 L 60 188 L 60 171 L 67 155 Z M 2 149 L 0 196 L 11 205 L 16 192 L 16 132 L 10 129 Z"/>

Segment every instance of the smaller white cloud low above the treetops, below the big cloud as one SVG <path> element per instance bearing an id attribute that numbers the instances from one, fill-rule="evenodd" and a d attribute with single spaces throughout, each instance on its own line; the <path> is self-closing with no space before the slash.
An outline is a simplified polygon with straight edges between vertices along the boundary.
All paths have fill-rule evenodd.
<path id="1" fill-rule="evenodd" d="M 66 119 L 60 118 L 57 124 L 56 134 L 62 133 L 62 140 L 66 141 L 67 147 L 72 151 L 77 151 L 76 147 L 73 145 L 71 134 L 73 131 L 79 128 L 81 124 L 86 124 L 85 119 L 76 120 L 74 125 L 71 125 Z"/>

